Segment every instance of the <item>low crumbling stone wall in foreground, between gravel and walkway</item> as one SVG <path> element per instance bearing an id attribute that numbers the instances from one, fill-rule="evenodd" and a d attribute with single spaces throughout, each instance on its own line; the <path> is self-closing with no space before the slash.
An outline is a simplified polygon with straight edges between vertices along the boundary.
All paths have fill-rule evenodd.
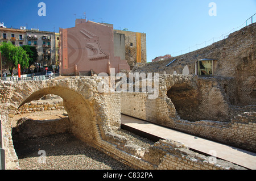
<path id="1" fill-rule="evenodd" d="M 205 156 L 189 150 L 185 145 L 171 140 L 160 140 L 142 156 L 131 154 L 117 145 L 98 139 L 97 145 L 115 159 L 144 170 L 246 170 L 244 167 L 213 156 Z"/>

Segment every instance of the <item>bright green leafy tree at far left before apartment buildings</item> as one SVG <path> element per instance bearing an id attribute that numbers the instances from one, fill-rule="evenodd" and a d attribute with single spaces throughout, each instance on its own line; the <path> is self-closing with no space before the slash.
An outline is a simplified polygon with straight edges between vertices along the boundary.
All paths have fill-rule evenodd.
<path id="1" fill-rule="evenodd" d="M 15 45 L 3 42 L 0 45 L 0 50 L 5 57 L 6 61 L 3 62 L 9 67 L 10 73 L 13 73 L 13 69 L 18 67 L 20 64 L 20 68 L 24 69 L 28 67 L 28 54 L 22 47 L 15 47 Z"/>

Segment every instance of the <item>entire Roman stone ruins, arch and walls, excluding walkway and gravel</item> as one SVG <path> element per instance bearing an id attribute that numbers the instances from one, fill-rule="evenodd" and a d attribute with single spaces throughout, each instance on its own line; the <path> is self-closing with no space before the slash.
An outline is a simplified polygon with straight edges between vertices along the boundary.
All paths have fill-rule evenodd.
<path id="1" fill-rule="evenodd" d="M 96 75 L 1 81 L 1 145 L 6 169 L 19 169 L 12 136 L 14 117 L 53 107 L 67 111 L 68 117 L 57 121 L 21 119 L 15 126 L 21 132 L 15 136 L 30 138 L 69 132 L 135 169 L 248 169 L 218 158 L 217 163 L 210 162 L 210 155 L 197 153 L 171 139 L 156 141 L 143 149 L 118 131 L 122 114 L 255 153 L 255 30 L 254 23 L 195 52 L 135 65 L 134 73 L 159 73 L 152 84 L 159 87 L 155 99 L 150 99 L 150 92 L 141 91 L 142 79 L 138 92 L 112 91 L 112 87 L 99 92 L 98 85 L 106 77 Z M 129 72 L 126 71 L 128 79 Z M 150 81 L 146 77 L 146 82 Z M 127 82 L 127 90 L 137 83 Z M 63 102 L 33 103 L 50 94 L 60 96 Z"/>

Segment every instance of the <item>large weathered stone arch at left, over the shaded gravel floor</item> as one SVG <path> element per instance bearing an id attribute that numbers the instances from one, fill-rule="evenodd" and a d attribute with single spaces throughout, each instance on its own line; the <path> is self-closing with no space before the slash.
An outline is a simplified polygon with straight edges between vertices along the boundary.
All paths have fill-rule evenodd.
<path id="1" fill-rule="evenodd" d="M 11 136 L 11 120 L 23 104 L 38 100 L 47 94 L 55 94 L 63 98 L 65 110 L 71 121 L 71 132 L 82 141 L 97 145 L 99 133 L 104 134 L 105 124 L 108 124 L 108 112 L 102 111 L 104 100 L 96 94 L 96 82 L 88 78 L 71 78 L 50 81 L 18 81 L 1 82 L 0 88 L 5 92 L 1 95 L 0 120 L 3 132 L 3 146 L 6 152 L 6 168 L 19 168 Z M 96 98 L 97 97 L 97 98 Z M 13 115 L 13 116 L 11 116 Z M 98 117 L 106 121 L 99 123 Z M 100 129 L 100 132 L 97 132 Z M 110 130 L 111 131 L 111 130 Z"/>

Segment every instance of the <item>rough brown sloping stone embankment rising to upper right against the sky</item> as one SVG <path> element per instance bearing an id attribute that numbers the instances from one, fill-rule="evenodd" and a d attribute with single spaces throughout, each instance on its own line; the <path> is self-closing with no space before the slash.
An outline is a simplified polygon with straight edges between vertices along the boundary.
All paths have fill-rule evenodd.
<path id="1" fill-rule="evenodd" d="M 208 47 L 168 60 L 137 64 L 133 71 L 183 74 L 183 70 L 188 68 L 189 74 L 195 74 L 197 61 L 203 58 L 212 58 L 216 60 L 213 64 L 214 77 L 229 77 L 236 81 L 233 87 L 236 96 L 232 104 L 237 106 L 255 105 L 255 40 L 256 23 L 253 23 L 240 31 L 230 33 L 228 38 L 217 41 Z M 173 60 L 175 61 L 168 65 Z"/>

